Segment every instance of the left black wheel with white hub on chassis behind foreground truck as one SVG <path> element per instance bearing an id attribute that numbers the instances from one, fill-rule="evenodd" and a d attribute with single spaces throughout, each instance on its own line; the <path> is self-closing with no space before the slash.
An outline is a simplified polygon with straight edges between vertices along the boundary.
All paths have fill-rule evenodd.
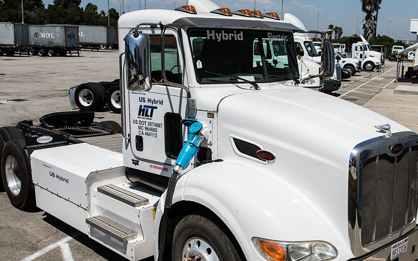
<path id="1" fill-rule="evenodd" d="M 95 111 L 105 106 L 105 88 L 100 83 L 81 84 L 74 92 L 75 102 L 83 111 Z"/>

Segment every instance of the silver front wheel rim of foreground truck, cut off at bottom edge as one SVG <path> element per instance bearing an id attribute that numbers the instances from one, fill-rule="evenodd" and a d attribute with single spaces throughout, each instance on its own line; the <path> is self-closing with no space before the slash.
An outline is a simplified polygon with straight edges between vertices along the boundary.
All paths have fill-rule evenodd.
<path id="1" fill-rule="evenodd" d="M 200 259 L 198 259 L 200 255 Z M 193 237 L 189 239 L 183 247 L 183 260 L 219 261 L 215 249 L 201 238 Z"/>

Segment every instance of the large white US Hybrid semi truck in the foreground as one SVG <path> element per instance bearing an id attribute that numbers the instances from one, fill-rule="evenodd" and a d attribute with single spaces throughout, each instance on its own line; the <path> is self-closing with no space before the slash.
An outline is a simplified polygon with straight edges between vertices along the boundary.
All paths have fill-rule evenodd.
<path id="1" fill-rule="evenodd" d="M 277 14 L 189 4 L 119 19 L 121 134 L 92 112 L 0 128 L 11 203 L 129 260 L 416 259 L 418 136 L 287 84 L 300 28 Z M 254 39 L 284 41 L 289 66 L 254 67 Z"/>

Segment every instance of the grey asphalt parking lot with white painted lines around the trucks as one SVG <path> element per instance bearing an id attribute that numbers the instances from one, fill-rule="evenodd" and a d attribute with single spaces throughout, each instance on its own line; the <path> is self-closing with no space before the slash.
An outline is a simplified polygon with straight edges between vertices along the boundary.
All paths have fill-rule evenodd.
<path id="1" fill-rule="evenodd" d="M 333 96 L 381 113 L 418 132 L 418 96 L 394 95 L 396 67 L 385 73 L 357 73 Z M 68 90 L 88 81 L 119 78 L 118 53 L 83 51 L 80 57 L 0 57 L 0 126 L 24 119 L 38 122 L 44 114 L 70 110 Z M 409 84 L 409 83 L 407 83 Z M 104 109 L 97 121 L 120 114 Z M 40 209 L 14 208 L 0 192 L 1 260 L 115 260 L 121 256 Z M 151 258 L 147 261 L 152 260 Z"/>

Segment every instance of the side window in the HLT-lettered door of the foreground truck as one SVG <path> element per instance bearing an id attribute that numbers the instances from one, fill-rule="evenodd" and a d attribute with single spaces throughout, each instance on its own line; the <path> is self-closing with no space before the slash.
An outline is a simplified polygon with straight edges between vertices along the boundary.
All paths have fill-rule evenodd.
<path id="1" fill-rule="evenodd" d="M 152 82 L 159 82 L 161 75 L 161 36 L 150 35 L 150 51 L 151 51 L 151 75 Z M 174 83 L 182 84 L 182 70 L 180 65 L 179 49 L 176 37 L 166 35 L 164 38 L 165 51 L 165 71 L 167 80 Z"/>

